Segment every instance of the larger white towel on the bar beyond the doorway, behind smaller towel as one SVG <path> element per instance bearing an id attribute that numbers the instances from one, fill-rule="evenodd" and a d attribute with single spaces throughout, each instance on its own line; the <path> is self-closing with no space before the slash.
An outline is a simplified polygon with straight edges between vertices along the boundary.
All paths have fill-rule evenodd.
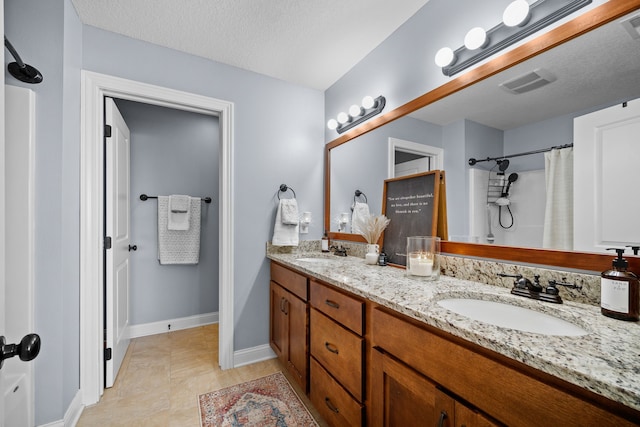
<path id="1" fill-rule="evenodd" d="M 158 196 L 158 260 L 160 264 L 197 264 L 200 261 L 201 201 L 190 198 L 188 230 L 169 230 L 169 197 Z"/>

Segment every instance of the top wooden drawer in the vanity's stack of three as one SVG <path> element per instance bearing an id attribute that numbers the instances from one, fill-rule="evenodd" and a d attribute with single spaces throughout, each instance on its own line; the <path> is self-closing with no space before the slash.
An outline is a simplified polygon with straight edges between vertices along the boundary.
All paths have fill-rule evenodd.
<path id="1" fill-rule="evenodd" d="M 358 335 L 364 332 L 364 303 L 311 280 L 311 305 Z"/>

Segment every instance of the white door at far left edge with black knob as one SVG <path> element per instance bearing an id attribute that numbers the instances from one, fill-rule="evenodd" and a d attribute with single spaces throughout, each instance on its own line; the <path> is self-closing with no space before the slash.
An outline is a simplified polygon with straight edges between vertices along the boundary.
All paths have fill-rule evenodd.
<path id="1" fill-rule="evenodd" d="M 2 335 L 8 343 L 20 342 L 34 327 L 35 99 L 30 89 L 5 86 L 4 201 L 10 209 L 4 212 L 6 303 Z M 8 382 L 4 389 L 5 424 L 33 425 L 33 363 L 14 357 L 2 370 Z"/>

